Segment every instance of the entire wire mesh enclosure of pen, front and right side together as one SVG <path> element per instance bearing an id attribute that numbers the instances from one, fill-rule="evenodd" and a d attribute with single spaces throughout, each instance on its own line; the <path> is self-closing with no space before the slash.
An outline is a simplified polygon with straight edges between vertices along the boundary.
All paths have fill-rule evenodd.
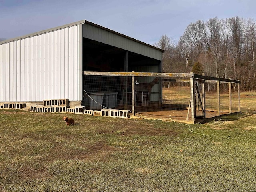
<path id="1" fill-rule="evenodd" d="M 229 113 L 231 98 L 231 111 L 238 111 L 236 83 L 172 77 L 172 74 L 109 74 L 84 75 L 83 104 L 86 109 L 128 110 L 130 115 L 142 118 L 194 121 L 194 118 Z"/>

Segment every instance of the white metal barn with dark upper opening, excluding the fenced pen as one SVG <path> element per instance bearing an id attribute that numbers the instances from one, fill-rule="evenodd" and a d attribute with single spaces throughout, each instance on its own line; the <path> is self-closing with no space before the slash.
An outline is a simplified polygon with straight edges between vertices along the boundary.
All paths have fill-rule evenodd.
<path id="1" fill-rule="evenodd" d="M 0 102 L 83 104 L 82 71 L 161 72 L 162 52 L 92 22 L 0 42 Z"/>

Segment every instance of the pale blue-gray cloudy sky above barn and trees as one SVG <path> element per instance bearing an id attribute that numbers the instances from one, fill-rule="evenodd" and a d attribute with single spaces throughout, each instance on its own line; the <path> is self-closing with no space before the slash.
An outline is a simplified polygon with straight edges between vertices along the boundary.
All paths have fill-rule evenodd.
<path id="1" fill-rule="evenodd" d="M 197 20 L 234 16 L 256 20 L 256 0 L 0 0 L 0 38 L 88 20 L 154 44 L 164 34 L 178 41 Z"/>

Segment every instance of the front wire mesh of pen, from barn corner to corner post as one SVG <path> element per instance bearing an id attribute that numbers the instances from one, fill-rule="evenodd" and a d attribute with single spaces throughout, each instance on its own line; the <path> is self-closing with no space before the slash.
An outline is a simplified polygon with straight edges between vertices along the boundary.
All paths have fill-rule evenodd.
<path id="1" fill-rule="evenodd" d="M 131 76 L 85 75 L 83 88 L 86 109 L 115 108 L 132 112 L 134 97 L 134 113 L 138 116 L 186 120 L 188 115 L 190 82 L 136 76 L 132 95 Z"/>

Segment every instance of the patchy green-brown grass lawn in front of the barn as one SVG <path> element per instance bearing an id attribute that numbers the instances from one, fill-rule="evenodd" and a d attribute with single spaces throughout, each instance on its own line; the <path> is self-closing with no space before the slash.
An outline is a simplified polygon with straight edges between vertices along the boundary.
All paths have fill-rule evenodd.
<path id="1" fill-rule="evenodd" d="M 195 125 L 0 110 L 0 191 L 256 191 L 254 95 Z"/>

